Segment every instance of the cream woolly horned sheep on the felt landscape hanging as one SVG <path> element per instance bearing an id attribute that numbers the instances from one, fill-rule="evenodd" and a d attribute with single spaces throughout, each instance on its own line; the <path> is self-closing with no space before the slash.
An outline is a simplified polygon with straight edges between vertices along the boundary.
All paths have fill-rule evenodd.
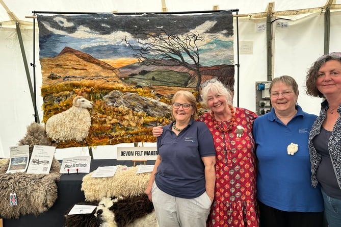
<path id="1" fill-rule="evenodd" d="M 45 130 L 52 141 L 83 141 L 89 134 L 91 115 L 88 108 L 93 107 L 83 96 L 73 98 L 72 107 L 47 119 Z"/>

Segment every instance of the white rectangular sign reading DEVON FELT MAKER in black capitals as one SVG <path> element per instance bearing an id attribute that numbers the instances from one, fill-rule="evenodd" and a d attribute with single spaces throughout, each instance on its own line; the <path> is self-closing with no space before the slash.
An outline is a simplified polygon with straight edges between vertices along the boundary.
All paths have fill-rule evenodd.
<path id="1" fill-rule="evenodd" d="M 117 160 L 156 160 L 158 150 L 155 147 L 117 147 Z"/>

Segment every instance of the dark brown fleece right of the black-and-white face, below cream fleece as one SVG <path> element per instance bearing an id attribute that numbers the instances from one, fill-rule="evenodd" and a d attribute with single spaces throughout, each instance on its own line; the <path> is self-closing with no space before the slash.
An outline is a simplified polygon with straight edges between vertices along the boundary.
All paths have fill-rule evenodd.
<path id="1" fill-rule="evenodd" d="M 118 227 L 133 223 L 136 219 L 151 213 L 154 207 L 146 194 L 119 198 L 109 210 L 115 214 Z"/>

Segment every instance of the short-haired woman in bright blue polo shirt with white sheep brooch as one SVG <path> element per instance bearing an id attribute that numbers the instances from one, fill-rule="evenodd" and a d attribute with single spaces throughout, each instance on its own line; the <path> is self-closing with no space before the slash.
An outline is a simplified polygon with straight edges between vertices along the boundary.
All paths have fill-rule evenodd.
<path id="1" fill-rule="evenodd" d="M 297 105 L 298 85 L 283 75 L 270 85 L 272 110 L 253 123 L 261 227 L 321 227 L 323 199 L 310 184 L 308 137 L 316 115 Z"/>

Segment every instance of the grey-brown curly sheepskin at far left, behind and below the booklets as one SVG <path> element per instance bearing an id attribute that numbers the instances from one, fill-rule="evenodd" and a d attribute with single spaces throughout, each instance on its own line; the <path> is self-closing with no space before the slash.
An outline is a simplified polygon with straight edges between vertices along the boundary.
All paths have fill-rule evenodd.
<path id="1" fill-rule="evenodd" d="M 18 145 L 29 145 L 30 155 L 34 145 L 50 146 L 44 127 L 32 123 Z M 6 173 L 9 159 L 0 162 L 0 216 L 19 218 L 20 215 L 39 215 L 54 205 L 57 199 L 57 182 L 60 181 L 60 163 L 54 159 L 49 174 L 26 172 Z M 10 206 L 10 193 L 17 195 L 17 206 Z"/>

